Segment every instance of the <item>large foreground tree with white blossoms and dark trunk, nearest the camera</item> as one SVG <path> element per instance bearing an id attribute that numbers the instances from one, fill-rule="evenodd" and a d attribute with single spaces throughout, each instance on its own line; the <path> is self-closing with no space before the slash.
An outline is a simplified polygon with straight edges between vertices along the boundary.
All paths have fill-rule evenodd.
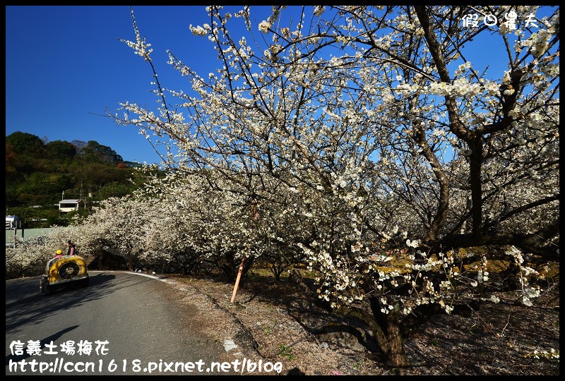
<path id="1" fill-rule="evenodd" d="M 528 260 L 559 260 L 559 7 L 273 6 L 258 25 L 251 7 L 207 11 L 191 31 L 220 65 L 201 76 L 169 52 L 182 90 L 157 80 L 132 11 L 136 40 L 122 41 L 150 63 L 160 102 L 113 115 L 168 138 L 155 145 L 186 176 L 177 197 L 205 200 L 206 244 L 299 253 L 319 296 L 365 320 L 393 365 L 430 315 L 484 300 L 489 260 L 512 264 L 524 303 L 539 294 Z M 465 25 L 473 14 L 497 23 Z M 473 64 L 485 38 L 503 69 Z M 198 176 L 206 195 L 191 193 Z M 223 226 L 201 218 L 206 205 Z M 194 216 L 183 210 L 172 215 Z"/>

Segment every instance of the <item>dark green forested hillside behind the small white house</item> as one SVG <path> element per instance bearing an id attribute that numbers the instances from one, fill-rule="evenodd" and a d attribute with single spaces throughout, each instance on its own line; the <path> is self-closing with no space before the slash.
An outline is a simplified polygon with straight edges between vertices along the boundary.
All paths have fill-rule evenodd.
<path id="1" fill-rule="evenodd" d="M 47 142 L 16 131 L 6 136 L 5 152 L 6 214 L 17 214 L 24 222 L 66 224 L 72 216 L 63 218 L 54 206 L 63 197 L 85 200 L 79 214 L 88 214 L 95 202 L 129 194 L 143 183 L 134 170 L 138 164 L 124 162 L 95 140 Z"/>

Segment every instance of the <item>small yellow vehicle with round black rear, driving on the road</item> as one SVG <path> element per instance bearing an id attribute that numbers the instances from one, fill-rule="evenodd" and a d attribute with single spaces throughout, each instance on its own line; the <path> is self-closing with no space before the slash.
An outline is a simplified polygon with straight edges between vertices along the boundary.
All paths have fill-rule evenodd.
<path id="1" fill-rule="evenodd" d="M 85 287 L 90 279 L 86 262 L 80 255 L 58 255 L 47 261 L 45 273 L 41 277 L 41 294 L 52 294 L 56 289 L 67 286 Z"/>

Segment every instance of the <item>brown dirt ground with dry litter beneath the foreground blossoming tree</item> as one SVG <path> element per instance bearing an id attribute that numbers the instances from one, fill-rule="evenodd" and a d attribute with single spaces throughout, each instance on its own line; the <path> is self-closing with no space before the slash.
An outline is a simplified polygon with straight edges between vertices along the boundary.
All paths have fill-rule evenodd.
<path id="1" fill-rule="evenodd" d="M 234 284 L 221 279 L 167 281 L 198 306 L 195 321 L 210 336 L 235 337 L 237 356 L 283 363 L 281 375 L 559 375 L 559 289 L 533 308 L 488 303 L 472 317 L 436 315 L 406 343 L 410 365 L 399 369 L 364 341 L 364 327 L 317 308 L 286 279 L 253 277 L 234 303 Z"/>

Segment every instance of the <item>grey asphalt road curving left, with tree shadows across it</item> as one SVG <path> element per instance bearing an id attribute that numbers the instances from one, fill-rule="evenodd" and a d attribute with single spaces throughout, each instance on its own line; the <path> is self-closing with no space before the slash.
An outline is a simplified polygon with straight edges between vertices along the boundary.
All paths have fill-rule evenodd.
<path id="1" fill-rule="evenodd" d="M 50 296 L 40 294 L 40 277 L 6 281 L 6 375 L 210 374 L 225 353 L 191 326 L 190 306 L 167 299 L 169 284 L 89 274 L 90 286 Z M 28 353 L 34 342 L 40 350 Z"/>

